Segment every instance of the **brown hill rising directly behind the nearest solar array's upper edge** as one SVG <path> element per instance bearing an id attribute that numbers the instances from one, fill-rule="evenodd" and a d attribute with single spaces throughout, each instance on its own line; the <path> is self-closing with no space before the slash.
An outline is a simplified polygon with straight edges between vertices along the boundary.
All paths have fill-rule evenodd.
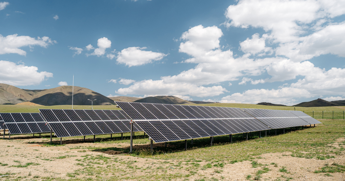
<path id="1" fill-rule="evenodd" d="M 192 102 L 185 101 L 175 96 L 145 97 L 133 102 L 134 103 L 155 103 L 155 104 L 194 104 Z"/>

